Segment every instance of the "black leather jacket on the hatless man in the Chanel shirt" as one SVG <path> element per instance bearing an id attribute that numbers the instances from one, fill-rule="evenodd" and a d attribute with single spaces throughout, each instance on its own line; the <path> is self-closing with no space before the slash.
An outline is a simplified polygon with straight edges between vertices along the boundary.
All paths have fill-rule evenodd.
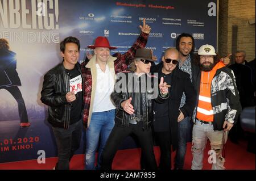
<path id="1" fill-rule="evenodd" d="M 75 65 L 75 68 L 82 74 L 79 63 Z M 48 106 L 48 122 L 53 127 L 64 129 L 69 127 L 72 104 L 67 102 L 66 94 L 68 92 L 69 73 L 61 63 L 44 75 L 41 91 L 41 101 Z"/>

